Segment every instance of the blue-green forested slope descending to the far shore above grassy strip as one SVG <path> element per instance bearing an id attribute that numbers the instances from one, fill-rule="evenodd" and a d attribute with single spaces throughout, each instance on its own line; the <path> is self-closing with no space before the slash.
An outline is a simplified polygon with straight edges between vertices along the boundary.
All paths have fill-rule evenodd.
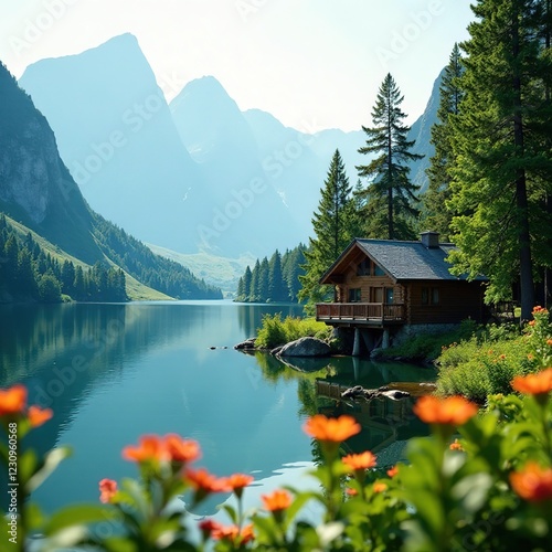
<path id="1" fill-rule="evenodd" d="M 123 229 L 94 213 L 94 237 L 102 251 L 146 286 L 176 299 L 222 299 L 222 291 L 180 263 L 156 255 Z"/>

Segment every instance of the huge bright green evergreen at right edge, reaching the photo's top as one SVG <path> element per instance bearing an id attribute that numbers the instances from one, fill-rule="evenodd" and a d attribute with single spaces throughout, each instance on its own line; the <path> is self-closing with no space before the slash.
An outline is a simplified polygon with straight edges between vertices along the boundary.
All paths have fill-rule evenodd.
<path id="1" fill-rule="evenodd" d="M 545 89 L 552 67 L 542 29 L 543 1 L 478 0 L 463 44 L 466 96 L 455 124 L 452 255 L 457 274 L 490 278 L 487 299 L 511 297 L 521 319 L 534 304 L 533 269 L 551 263 L 543 198 L 552 182 L 552 116 Z M 544 222 L 548 221 L 548 222 Z M 544 222 L 544 224 L 543 224 Z M 535 252 L 539 252 L 535 255 Z"/>

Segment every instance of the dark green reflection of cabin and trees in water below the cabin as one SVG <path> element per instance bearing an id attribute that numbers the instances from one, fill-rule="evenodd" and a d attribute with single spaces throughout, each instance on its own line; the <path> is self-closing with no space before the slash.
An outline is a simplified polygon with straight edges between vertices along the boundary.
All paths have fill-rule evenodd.
<path id="1" fill-rule="evenodd" d="M 378 363 L 370 360 L 342 357 L 328 359 L 286 359 L 256 353 L 264 378 L 298 380 L 301 413 L 339 416 L 349 414 L 362 427 L 360 434 L 343 444 L 343 453 L 378 453 L 379 465 L 393 465 L 404 459 L 406 442 L 414 436 L 428 435 L 428 427 L 412 412 L 416 396 L 428 392 L 436 371 L 432 368 L 405 363 Z M 404 382 L 408 382 L 405 385 Z M 422 383 L 420 386 L 418 383 Z M 354 385 L 367 390 L 381 386 L 407 389 L 411 396 L 393 400 L 385 395 L 371 400 L 344 400 L 341 393 Z M 319 460 L 319 450 L 312 443 L 312 455 Z"/>

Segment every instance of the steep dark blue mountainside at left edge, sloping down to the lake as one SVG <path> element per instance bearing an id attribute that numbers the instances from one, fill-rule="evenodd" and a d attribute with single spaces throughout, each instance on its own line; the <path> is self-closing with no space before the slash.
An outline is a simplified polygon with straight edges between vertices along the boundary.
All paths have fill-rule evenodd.
<path id="1" fill-rule="evenodd" d="M 155 255 L 88 206 L 60 158 L 47 120 L 2 64 L 0 120 L 0 212 L 14 220 L 8 221 L 9 235 L 4 229 L 0 236 L 7 238 L 0 254 L 14 255 L 2 258 L 10 262 L 14 280 L 14 265 L 21 264 L 19 252 L 25 248 L 24 235 L 32 231 L 35 236 L 26 240 L 30 248 L 32 253 L 36 247 L 45 250 L 43 256 L 53 258 L 49 263 L 55 278 L 61 276 L 55 274 L 56 266 L 67 261 L 85 267 L 94 264 L 102 274 L 106 267 L 119 267 L 129 280 L 136 278 L 171 297 L 221 297 L 220 290 L 195 278 L 182 265 Z M 40 243 L 36 236 L 44 242 Z M 40 255 L 36 252 L 35 257 Z M 32 262 L 28 261 L 25 274 L 40 272 L 40 267 L 30 265 Z M 10 294 L 4 289 L 2 295 Z"/>

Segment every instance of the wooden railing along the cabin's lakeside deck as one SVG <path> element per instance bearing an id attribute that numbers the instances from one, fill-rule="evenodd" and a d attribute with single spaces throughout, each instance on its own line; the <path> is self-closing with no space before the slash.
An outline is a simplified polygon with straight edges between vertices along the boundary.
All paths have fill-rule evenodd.
<path id="1" fill-rule="evenodd" d="M 359 321 L 359 322 L 404 322 L 404 304 L 386 305 L 384 302 L 319 302 L 316 306 L 316 318 L 321 321 Z"/>

